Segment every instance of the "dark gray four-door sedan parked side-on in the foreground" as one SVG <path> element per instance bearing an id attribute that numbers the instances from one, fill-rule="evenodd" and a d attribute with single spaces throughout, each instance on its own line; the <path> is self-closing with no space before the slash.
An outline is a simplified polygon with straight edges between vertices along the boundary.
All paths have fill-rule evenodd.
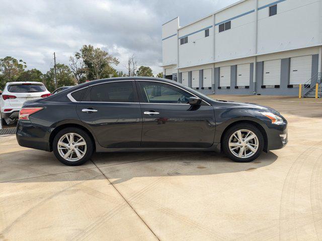
<path id="1" fill-rule="evenodd" d="M 26 102 L 16 135 L 21 146 L 72 166 L 94 151 L 222 151 L 250 162 L 287 144 L 287 121 L 272 108 L 213 100 L 172 80 L 123 77 Z"/>

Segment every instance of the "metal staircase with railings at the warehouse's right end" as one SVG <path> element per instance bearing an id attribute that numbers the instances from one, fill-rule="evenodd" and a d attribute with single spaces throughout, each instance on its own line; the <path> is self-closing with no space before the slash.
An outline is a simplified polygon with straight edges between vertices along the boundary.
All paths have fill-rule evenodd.
<path id="1" fill-rule="evenodd" d="M 317 87 L 317 97 L 322 97 L 322 73 L 314 74 L 309 80 L 307 80 L 301 89 L 302 98 L 305 97 L 315 97 Z"/>

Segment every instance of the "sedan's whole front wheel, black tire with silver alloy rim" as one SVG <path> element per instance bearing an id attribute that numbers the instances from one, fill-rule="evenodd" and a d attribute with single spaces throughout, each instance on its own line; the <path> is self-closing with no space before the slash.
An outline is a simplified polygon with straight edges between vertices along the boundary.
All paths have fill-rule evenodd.
<path id="1" fill-rule="evenodd" d="M 239 134 L 238 131 L 240 131 L 241 138 L 238 135 Z M 254 135 L 256 137 L 254 137 Z M 246 136 L 248 137 L 246 138 Z M 248 138 L 251 138 L 251 137 L 254 137 L 254 139 L 248 140 Z M 232 161 L 252 162 L 255 159 L 257 159 L 263 152 L 264 137 L 261 131 L 254 125 L 241 123 L 231 127 L 224 134 L 221 145 L 222 145 L 223 152 Z M 240 151 L 241 151 L 241 157 L 240 157 Z"/>

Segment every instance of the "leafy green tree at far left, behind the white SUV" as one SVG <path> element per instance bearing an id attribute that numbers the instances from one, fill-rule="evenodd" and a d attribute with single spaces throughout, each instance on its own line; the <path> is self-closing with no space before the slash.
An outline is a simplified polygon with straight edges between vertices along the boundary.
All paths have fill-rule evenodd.
<path id="1" fill-rule="evenodd" d="M 17 60 L 11 56 L 0 59 L 0 74 L 6 82 L 16 81 L 27 68 L 26 62 Z"/>

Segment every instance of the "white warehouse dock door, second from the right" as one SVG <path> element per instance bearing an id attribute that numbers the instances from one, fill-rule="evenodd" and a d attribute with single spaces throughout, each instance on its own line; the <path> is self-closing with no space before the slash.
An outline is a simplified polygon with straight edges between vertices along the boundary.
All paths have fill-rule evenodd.
<path id="1" fill-rule="evenodd" d="M 264 61 L 263 85 L 280 85 L 281 60 Z"/>

